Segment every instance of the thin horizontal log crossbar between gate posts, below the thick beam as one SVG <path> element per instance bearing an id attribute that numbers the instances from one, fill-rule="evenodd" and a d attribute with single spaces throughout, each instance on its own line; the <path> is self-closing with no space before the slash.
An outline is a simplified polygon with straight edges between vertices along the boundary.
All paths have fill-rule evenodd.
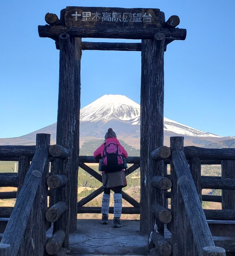
<path id="1" fill-rule="evenodd" d="M 141 51 L 141 43 L 101 43 L 82 42 L 83 50 L 101 51 Z"/>

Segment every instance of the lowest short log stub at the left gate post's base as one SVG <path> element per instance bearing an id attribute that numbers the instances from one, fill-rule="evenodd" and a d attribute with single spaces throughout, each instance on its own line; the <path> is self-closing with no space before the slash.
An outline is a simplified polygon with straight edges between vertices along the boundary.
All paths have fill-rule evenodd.
<path id="1" fill-rule="evenodd" d="M 65 232 L 62 229 L 55 231 L 53 236 L 46 243 L 46 252 L 49 255 L 57 254 L 64 242 Z"/>

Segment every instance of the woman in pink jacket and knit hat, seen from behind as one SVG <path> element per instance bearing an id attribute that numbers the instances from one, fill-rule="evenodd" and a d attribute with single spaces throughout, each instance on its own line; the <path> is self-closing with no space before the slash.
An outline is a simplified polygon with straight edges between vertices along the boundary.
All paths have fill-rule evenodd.
<path id="1" fill-rule="evenodd" d="M 103 143 L 97 150 L 94 151 L 94 157 L 103 157 L 107 154 L 108 147 L 116 146 L 116 152 L 118 155 L 123 155 L 127 158 L 127 151 L 119 143 L 116 138 L 115 132 L 112 128 L 108 129 L 108 132 L 105 133 L 105 143 Z M 103 160 L 105 161 L 105 160 Z M 123 163 L 120 157 L 118 159 L 119 164 Z M 106 160 L 107 164 L 107 160 Z M 113 227 L 121 227 L 120 217 L 122 211 L 122 188 L 127 186 L 127 180 L 125 177 L 125 169 L 121 171 L 106 172 L 102 171 L 102 183 L 103 183 L 103 198 L 102 198 L 102 224 L 108 224 L 108 213 L 109 213 L 109 204 L 110 204 L 110 190 L 114 191 L 114 220 Z"/>

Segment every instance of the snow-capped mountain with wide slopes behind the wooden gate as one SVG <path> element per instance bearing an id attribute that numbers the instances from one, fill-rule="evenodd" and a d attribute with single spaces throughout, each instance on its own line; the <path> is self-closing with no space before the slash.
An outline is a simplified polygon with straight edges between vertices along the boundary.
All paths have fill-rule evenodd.
<path id="1" fill-rule="evenodd" d="M 84 141 L 103 139 L 112 127 L 119 139 L 140 148 L 140 105 L 123 95 L 104 95 L 80 110 L 80 147 Z M 35 145 L 37 133 L 50 133 L 55 144 L 56 123 L 28 135 L 0 139 L 0 145 Z M 221 137 L 209 132 L 180 124 L 164 117 L 164 144 L 169 146 L 169 137 L 184 136 L 184 145 L 228 147 L 235 145 L 234 137 Z"/>

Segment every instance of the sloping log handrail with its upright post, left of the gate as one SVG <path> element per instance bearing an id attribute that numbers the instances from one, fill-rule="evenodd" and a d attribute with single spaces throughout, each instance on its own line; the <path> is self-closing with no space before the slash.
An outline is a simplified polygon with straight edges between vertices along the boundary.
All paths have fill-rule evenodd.
<path id="1" fill-rule="evenodd" d="M 35 255 L 34 252 L 37 252 L 38 255 L 44 253 L 47 200 L 42 202 L 42 198 L 47 198 L 45 178 L 48 175 L 49 144 L 50 135 L 37 134 L 35 154 L 4 231 L 0 243 L 0 255 L 16 256 L 19 249 L 20 255 L 28 255 L 26 253 L 29 253 L 31 248 L 27 247 L 26 249 L 25 246 L 29 240 L 34 241 L 31 255 Z M 5 156 L 8 157 L 7 154 Z M 9 154 L 9 156 L 11 155 Z M 33 213 L 31 213 L 32 209 L 34 209 Z M 30 229 L 34 230 L 33 234 L 29 232 Z M 24 251 L 24 249 L 26 250 Z"/>

